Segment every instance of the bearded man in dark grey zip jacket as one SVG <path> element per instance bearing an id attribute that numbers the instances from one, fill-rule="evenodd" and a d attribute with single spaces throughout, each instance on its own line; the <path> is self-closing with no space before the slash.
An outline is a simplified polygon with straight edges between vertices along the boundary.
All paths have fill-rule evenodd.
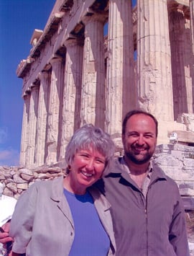
<path id="1" fill-rule="evenodd" d="M 119 256 L 188 256 L 185 213 L 176 183 L 152 162 L 157 120 L 140 110 L 122 125 L 124 156 L 98 187 L 111 203 Z"/>

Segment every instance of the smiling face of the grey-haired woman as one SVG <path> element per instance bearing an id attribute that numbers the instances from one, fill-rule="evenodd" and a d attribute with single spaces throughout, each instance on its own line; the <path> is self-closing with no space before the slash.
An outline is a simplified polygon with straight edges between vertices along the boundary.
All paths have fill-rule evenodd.
<path id="1" fill-rule="evenodd" d="M 70 164 L 68 175 L 68 185 L 70 185 L 71 192 L 75 194 L 86 193 L 86 188 L 101 178 L 105 164 L 105 156 L 92 147 L 78 151 L 72 164 Z"/>

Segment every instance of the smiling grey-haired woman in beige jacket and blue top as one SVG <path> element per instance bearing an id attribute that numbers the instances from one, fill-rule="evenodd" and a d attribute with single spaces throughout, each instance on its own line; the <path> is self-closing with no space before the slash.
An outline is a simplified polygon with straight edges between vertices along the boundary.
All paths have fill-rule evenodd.
<path id="1" fill-rule="evenodd" d="M 93 183 L 114 156 L 108 134 L 84 125 L 65 152 L 65 177 L 35 182 L 11 219 L 13 255 L 115 255 L 110 204 Z"/>

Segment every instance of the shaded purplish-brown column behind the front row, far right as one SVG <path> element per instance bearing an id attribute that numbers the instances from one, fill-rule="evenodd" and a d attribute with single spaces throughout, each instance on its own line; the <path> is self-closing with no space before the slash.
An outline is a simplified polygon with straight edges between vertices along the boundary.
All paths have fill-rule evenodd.
<path id="1" fill-rule="evenodd" d="M 175 120 L 183 112 L 193 112 L 190 25 L 180 6 L 170 10 L 170 43 Z M 190 63 L 190 64 L 189 64 Z"/>

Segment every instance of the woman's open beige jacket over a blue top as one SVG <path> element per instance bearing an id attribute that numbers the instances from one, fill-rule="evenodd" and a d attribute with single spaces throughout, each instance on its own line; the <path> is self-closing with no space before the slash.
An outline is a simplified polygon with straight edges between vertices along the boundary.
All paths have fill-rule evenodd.
<path id="1" fill-rule="evenodd" d="M 88 191 L 111 241 L 108 255 L 115 255 L 111 205 L 96 188 L 91 187 Z M 14 252 L 26 252 L 27 256 L 68 256 L 75 229 L 63 193 L 63 177 L 35 182 L 29 187 L 17 202 L 11 219 L 10 235 L 14 237 Z"/>

